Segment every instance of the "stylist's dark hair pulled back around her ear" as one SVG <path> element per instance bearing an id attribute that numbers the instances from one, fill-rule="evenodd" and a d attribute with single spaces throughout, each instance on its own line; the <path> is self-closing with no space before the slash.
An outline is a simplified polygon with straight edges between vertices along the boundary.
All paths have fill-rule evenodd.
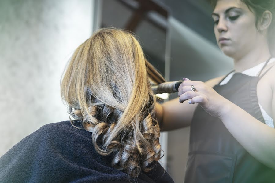
<path id="1" fill-rule="evenodd" d="M 213 9 L 217 5 L 218 0 L 209 0 Z M 261 20 L 263 13 L 268 10 L 272 13 L 272 22 L 269 26 L 268 30 L 268 38 L 269 38 L 269 47 L 271 52 L 275 48 L 275 38 L 274 38 L 274 30 L 275 30 L 275 1 L 274 0 L 240 0 L 250 9 L 252 13 L 255 14 L 256 22 L 255 26 L 258 29 L 258 21 Z M 274 52 L 274 51 L 273 51 Z M 274 56 L 274 54 L 273 54 Z"/>

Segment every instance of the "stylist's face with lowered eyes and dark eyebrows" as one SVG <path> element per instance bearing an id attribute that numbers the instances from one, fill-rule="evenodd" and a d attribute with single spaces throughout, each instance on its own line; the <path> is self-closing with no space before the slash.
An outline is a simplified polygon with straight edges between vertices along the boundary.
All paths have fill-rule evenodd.
<path id="1" fill-rule="evenodd" d="M 256 45 L 255 15 L 240 0 L 218 0 L 212 17 L 217 43 L 227 56 L 240 57 Z"/>

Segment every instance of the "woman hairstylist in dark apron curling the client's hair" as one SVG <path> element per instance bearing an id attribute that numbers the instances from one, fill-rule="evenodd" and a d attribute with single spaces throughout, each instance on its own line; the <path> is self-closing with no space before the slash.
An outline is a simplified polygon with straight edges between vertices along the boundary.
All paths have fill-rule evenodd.
<path id="1" fill-rule="evenodd" d="M 184 78 L 180 98 L 157 105 L 158 121 L 163 131 L 191 125 L 185 182 L 275 182 L 275 1 L 211 2 L 235 70 L 206 83 Z"/>

